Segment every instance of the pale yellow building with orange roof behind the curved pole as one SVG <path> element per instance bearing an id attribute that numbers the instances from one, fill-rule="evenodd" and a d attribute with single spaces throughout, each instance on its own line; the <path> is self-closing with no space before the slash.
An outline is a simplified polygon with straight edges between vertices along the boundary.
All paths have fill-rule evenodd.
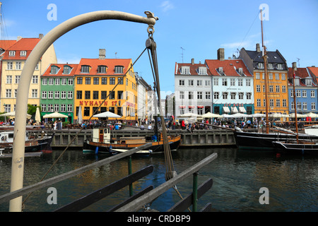
<path id="1" fill-rule="evenodd" d="M 18 83 L 26 59 L 35 45 L 40 42 L 42 35 L 38 38 L 18 37 L 17 40 L 0 41 L 0 47 L 4 49 L 1 54 L 1 93 L 0 112 L 16 111 L 16 95 Z M 10 44 L 8 44 L 10 43 Z M 30 83 L 28 104 L 40 106 L 40 75 L 47 69 L 49 64 L 57 63 L 54 46 L 52 44 L 43 54 L 37 64 Z"/>

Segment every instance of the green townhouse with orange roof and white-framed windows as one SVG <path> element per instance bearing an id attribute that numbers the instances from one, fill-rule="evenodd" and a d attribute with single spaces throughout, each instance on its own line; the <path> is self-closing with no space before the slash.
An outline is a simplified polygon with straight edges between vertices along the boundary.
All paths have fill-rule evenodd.
<path id="1" fill-rule="evenodd" d="M 41 76 L 41 116 L 52 112 L 65 114 L 73 121 L 74 74 L 78 64 L 50 64 Z"/>

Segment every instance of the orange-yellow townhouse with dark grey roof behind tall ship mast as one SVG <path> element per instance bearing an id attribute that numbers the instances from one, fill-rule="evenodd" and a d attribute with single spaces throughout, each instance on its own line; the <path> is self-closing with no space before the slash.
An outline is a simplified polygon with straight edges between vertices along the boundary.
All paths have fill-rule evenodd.
<path id="1" fill-rule="evenodd" d="M 278 50 L 267 52 L 267 57 L 269 113 L 289 114 L 288 66 Z M 254 113 L 265 113 L 265 71 L 259 44 L 255 51 L 242 48 L 240 58 L 254 76 Z"/>

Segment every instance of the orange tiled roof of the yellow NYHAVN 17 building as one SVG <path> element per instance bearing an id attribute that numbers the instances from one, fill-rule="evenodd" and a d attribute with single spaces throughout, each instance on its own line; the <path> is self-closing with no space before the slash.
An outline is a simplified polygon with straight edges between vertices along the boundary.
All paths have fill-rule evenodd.
<path id="1" fill-rule="evenodd" d="M 76 69 L 76 75 L 124 75 L 131 66 L 131 59 L 88 59 L 82 58 Z M 81 73 L 81 66 L 90 66 L 89 73 Z M 107 66 L 106 73 L 98 73 L 98 66 Z M 114 73 L 115 66 L 124 66 L 123 73 Z"/>

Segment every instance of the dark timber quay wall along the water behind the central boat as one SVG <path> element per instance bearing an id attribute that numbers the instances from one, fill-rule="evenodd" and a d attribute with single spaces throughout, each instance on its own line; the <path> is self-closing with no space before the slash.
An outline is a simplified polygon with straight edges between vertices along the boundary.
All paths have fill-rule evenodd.
<path id="1" fill-rule="evenodd" d="M 73 138 L 78 133 L 79 129 L 62 129 L 62 130 L 44 130 L 47 134 L 55 133 L 52 140 L 52 148 L 65 148 Z M 40 135 L 41 131 L 32 131 L 35 135 Z M 140 130 L 140 129 L 123 129 L 119 131 L 112 131 L 114 137 L 124 137 L 124 136 L 145 136 L 153 135 L 153 131 Z M 75 140 L 69 145 L 70 148 L 82 148 L 83 141 L 90 138 L 92 134 L 91 129 L 83 129 Z M 194 130 L 190 133 L 187 130 L 170 130 L 168 135 L 181 134 L 182 141 L 181 147 L 196 147 L 196 146 L 207 146 L 207 145 L 235 145 L 235 138 L 232 131 L 223 129 L 201 129 Z"/>

